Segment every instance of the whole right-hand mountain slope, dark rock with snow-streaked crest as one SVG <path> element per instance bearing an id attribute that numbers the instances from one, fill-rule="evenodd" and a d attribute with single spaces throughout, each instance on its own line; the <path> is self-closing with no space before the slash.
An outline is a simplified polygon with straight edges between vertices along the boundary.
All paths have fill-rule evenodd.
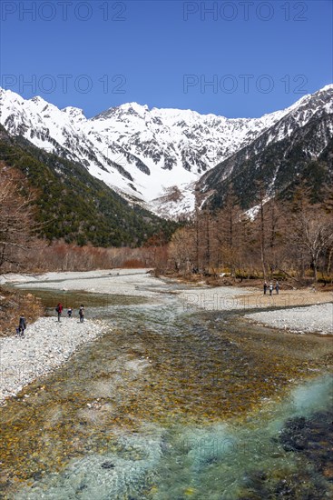
<path id="1" fill-rule="evenodd" d="M 303 97 L 250 145 L 216 165 L 197 184 L 199 204 L 223 204 L 232 189 L 243 208 L 288 194 L 301 180 L 333 185 L 333 85 Z"/>

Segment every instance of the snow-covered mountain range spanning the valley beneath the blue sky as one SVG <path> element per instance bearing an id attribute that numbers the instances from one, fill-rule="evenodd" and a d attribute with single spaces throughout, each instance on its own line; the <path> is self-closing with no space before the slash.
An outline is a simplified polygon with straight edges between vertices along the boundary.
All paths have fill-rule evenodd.
<path id="1" fill-rule="evenodd" d="M 80 162 L 127 199 L 171 216 L 193 209 L 201 175 L 256 141 L 261 148 L 281 140 L 319 110 L 330 113 L 332 97 L 333 85 L 328 85 L 260 118 L 228 119 L 129 103 L 87 119 L 81 109 L 60 110 L 41 97 L 24 100 L 0 89 L 0 113 L 10 134 Z"/>

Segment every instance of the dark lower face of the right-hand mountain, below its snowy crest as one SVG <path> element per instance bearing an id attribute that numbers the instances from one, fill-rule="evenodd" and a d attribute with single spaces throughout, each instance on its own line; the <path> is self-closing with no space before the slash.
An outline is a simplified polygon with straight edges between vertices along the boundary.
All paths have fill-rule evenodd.
<path id="1" fill-rule="evenodd" d="M 296 185 L 309 185 L 312 196 L 318 198 L 325 186 L 333 186 L 333 111 L 314 114 L 306 125 L 297 128 L 281 140 L 263 146 L 265 134 L 201 177 L 197 185 L 197 200 L 201 205 L 218 208 L 230 190 L 243 209 L 258 203 L 258 186 L 264 201 L 278 195 L 289 197 Z M 321 182 L 318 184 L 318 178 Z M 294 189 L 293 189 L 294 188 Z"/>

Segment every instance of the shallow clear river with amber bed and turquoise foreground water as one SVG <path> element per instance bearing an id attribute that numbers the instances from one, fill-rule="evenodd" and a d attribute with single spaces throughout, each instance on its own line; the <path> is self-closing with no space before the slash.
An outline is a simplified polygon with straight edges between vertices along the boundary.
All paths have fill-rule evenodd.
<path id="1" fill-rule="evenodd" d="M 1 408 L 0 497 L 331 497 L 329 339 L 195 311 L 176 289 L 66 292 L 110 331 Z"/>

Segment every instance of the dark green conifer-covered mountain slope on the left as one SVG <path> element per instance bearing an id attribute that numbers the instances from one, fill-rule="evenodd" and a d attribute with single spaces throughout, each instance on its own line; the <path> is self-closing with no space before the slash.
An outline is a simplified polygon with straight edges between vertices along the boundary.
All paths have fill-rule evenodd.
<path id="1" fill-rule="evenodd" d="M 135 247 L 152 237 L 166 242 L 178 227 L 130 205 L 83 165 L 47 153 L 22 136 L 8 135 L 2 125 L 0 160 L 24 174 L 34 196 L 37 234 L 47 241 Z"/>

